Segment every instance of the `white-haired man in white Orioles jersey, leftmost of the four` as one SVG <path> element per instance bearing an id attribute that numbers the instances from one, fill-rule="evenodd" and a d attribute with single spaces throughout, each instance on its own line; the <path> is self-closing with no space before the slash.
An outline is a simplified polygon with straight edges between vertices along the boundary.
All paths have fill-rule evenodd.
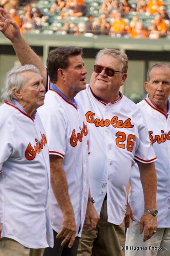
<path id="1" fill-rule="evenodd" d="M 48 146 L 37 113 L 44 98 L 36 67 L 9 71 L 0 107 L 1 256 L 42 256 L 43 248 L 53 247 Z"/>

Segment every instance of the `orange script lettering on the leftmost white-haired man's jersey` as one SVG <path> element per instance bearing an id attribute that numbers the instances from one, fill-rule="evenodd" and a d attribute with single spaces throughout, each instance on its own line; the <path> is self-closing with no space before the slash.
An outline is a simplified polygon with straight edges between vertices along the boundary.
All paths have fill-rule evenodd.
<path id="1" fill-rule="evenodd" d="M 41 149 L 44 148 L 44 146 L 47 143 L 46 135 L 44 133 L 41 134 L 40 142 L 38 141 L 38 139 L 35 139 L 35 142 L 36 142 L 35 146 L 32 146 L 31 143 L 29 142 L 29 144 L 25 150 L 25 157 L 28 160 L 33 160 L 35 158 L 36 154 L 37 153 L 39 154 Z"/>

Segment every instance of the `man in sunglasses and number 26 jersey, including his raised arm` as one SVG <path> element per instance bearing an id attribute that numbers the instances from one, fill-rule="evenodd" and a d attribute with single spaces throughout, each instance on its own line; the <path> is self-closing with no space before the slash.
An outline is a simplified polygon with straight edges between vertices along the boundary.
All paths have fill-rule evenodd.
<path id="1" fill-rule="evenodd" d="M 4 35 L 12 41 L 22 65 L 25 62 L 36 65 L 46 84 L 46 68 L 20 36 L 17 25 L 3 20 L 0 26 Z M 99 51 L 90 84 L 76 96 L 82 103 L 91 138 L 89 183 L 95 202 L 93 198 L 89 200 L 100 214 L 97 227 L 92 232 L 89 232 L 92 230 L 90 219 L 86 219 L 78 250 L 81 256 L 124 255 L 126 186 L 135 161 L 141 175 L 145 209 L 156 209 L 153 163 L 156 157 L 146 124 L 139 108 L 119 92 L 127 78 L 127 69 L 125 53 L 113 49 Z M 144 230 L 146 241 L 156 229 L 157 221 L 147 212 L 143 213 L 140 221 L 139 231 L 142 233 Z"/>

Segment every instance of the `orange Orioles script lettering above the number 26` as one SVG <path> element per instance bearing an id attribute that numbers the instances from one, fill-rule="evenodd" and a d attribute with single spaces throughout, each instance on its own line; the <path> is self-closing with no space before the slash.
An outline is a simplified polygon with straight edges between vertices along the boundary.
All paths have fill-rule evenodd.
<path id="1" fill-rule="evenodd" d="M 117 116 L 113 116 L 111 120 L 109 119 L 99 119 L 99 118 L 95 118 L 95 113 L 88 111 L 86 113 L 86 120 L 88 123 L 90 124 L 95 124 L 96 127 L 108 127 L 109 125 L 112 125 L 113 127 L 117 127 L 117 128 L 132 128 L 134 125 L 131 124 L 131 118 L 127 118 L 124 122 L 123 120 L 118 120 Z"/>

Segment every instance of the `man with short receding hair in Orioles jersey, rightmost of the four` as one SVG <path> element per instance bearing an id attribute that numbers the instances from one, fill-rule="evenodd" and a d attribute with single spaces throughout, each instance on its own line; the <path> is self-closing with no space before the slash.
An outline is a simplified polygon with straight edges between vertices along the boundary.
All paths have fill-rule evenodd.
<path id="1" fill-rule="evenodd" d="M 170 67 L 163 63 L 153 65 L 147 73 L 145 90 L 147 97 L 137 105 L 144 114 L 150 139 L 157 156 L 155 168 L 157 172 L 157 211 L 154 208 L 146 209 L 153 218 L 157 215 L 158 228 L 154 236 L 143 243 L 138 234 L 139 221 L 143 213 L 144 198 L 140 182 L 138 166 L 132 167 L 131 189 L 129 193 L 128 214 L 132 210 L 130 227 L 126 236 L 126 255 L 135 256 L 137 249 L 143 256 L 170 255 Z M 149 211 L 148 211 L 149 210 Z M 133 250 L 134 248 L 134 250 Z M 136 249 L 135 249 L 136 248 Z"/>

